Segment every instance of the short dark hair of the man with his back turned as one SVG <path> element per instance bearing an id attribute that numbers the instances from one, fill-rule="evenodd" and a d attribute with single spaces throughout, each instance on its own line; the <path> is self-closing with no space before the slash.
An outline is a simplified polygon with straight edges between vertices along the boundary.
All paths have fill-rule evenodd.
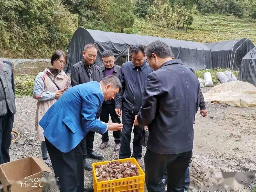
<path id="1" fill-rule="evenodd" d="M 150 43 L 146 47 L 145 53 L 147 57 L 152 57 L 153 53 L 162 59 L 172 57 L 172 49 L 165 42 L 159 40 Z"/>

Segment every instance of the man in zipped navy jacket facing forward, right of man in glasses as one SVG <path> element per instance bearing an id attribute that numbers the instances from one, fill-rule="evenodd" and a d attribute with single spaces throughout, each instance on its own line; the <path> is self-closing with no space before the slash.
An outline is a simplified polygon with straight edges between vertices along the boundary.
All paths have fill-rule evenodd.
<path id="1" fill-rule="evenodd" d="M 142 44 L 137 44 L 132 48 L 132 61 L 123 63 L 119 75 L 122 90 L 116 95 L 115 111 L 120 116 L 122 109 L 123 132 L 119 151 L 120 159 L 131 157 L 130 144 L 134 118 L 141 106 L 146 78 L 153 71 L 145 60 L 144 49 L 145 46 Z M 132 157 L 142 166 L 140 160 L 142 152 L 142 146 L 140 145 L 141 132 L 142 129 L 134 126 Z"/>

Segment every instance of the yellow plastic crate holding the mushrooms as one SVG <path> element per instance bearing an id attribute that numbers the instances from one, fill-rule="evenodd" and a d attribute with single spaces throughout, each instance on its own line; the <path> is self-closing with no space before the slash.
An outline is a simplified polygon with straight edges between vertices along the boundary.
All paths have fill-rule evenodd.
<path id="1" fill-rule="evenodd" d="M 98 182 L 95 174 L 95 165 L 104 165 L 110 161 L 98 162 L 92 164 L 92 174 L 93 174 L 93 189 L 94 192 L 143 192 L 145 183 L 145 173 L 139 166 L 135 158 L 118 159 L 113 161 L 131 161 L 131 163 L 136 164 L 139 169 L 139 175 L 121 179 L 114 179 L 108 181 Z"/>

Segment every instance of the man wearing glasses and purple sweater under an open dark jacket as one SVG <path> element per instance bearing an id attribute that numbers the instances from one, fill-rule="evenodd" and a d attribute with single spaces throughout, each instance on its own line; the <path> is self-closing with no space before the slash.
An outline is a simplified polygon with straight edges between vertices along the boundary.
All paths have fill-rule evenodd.
<path id="1" fill-rule="evenodd" d="M 104 51 L 102 53 L 102 60 L 104 63 L 104 65 L 101 66 L 103 77 L 105 78 L 109 75 L 118 77 L 121 67 L 114 64 L 114 61 L 115 61 L 114 53 L 110 50 Z M 100 113 L 100 120 L 105 123 L 108 123 L 109 115 L 113 123 L 121 123 L 119 116 L 115 112 L 115 100 L 113 99 L 103 102 L 101 113 Z M 122 131 L 121 130 L 113 131 L 113 136 L 115 138 L 114 151 L 119 151 L 121 146 Z M 100 145 L 100 148 L 104 149 L 106 148 L 109 141 L 108 131 L 106 131 L 106 133 L 102 135 L 101 139 L 102 139 L 102 143 Z"/>

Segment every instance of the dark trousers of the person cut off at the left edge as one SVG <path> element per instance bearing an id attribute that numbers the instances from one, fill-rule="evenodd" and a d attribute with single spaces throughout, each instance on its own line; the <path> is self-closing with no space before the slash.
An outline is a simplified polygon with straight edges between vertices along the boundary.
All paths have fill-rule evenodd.
<path id="1" fill-rule="evenodd" d="M 12 141 L 14 115 L 7 112 L 0 117 L 0 164 L 10 161 L 9 148 Z"/>

